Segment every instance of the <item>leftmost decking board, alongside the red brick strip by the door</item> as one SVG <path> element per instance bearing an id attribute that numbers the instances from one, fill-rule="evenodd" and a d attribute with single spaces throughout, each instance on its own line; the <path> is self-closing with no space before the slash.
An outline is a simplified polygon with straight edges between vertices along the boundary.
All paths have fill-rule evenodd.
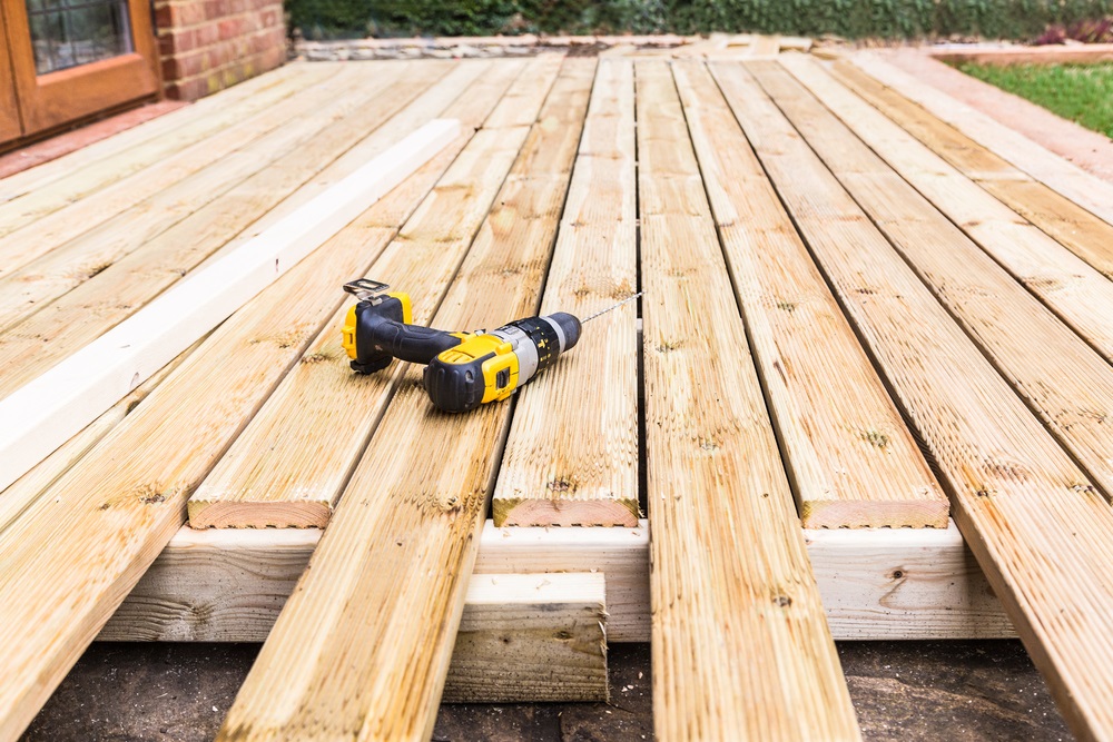
<path id="1" fill-rule="evenodd" d="M 88 152 L 79 152 L 60 158 L 57 165 L 48 164 L 0 181 L 0 236 L 128 176 L 150 167 L 157 168 L 161 160 L 266 109 L 305 86 L 335 75 L 336 71 L 335 66 L 321 70 L 295 69 L 292 73 L 284 72 L 275 78 L 262 79 L 255 85 L 249 81 L 243 91 L 237 86 L 227 96 L 214 96 L 211 102 L 196 103 L 178 115 L 137 127 L 131 133 L 124 132 L 119 138 L 114 137 L 104 147 L 89 148 L 97 151 L 114 150 L 107 157 L 91 159 Z M 155 136 L 150 136 L 152 132 Z M 124 142 L 134 144 L 122 147 Z M 47 171 L 57 177 L 43 177 Z"/>

